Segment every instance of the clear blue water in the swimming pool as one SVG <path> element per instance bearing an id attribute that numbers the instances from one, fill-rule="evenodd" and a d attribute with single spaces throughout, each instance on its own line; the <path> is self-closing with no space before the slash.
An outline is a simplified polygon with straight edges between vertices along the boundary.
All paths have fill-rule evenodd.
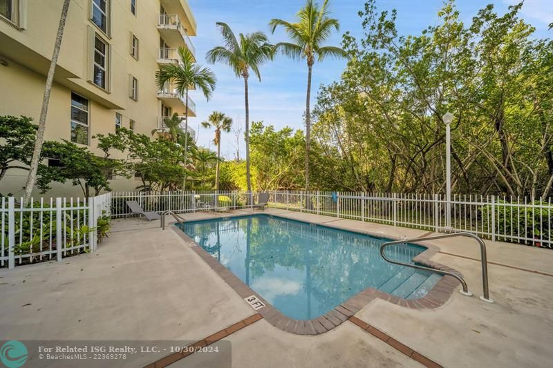
<path id="1" fill-rule="evenodd" d="M 397 266 L 379 253 L 384 239 L 268 215 L 186 222 L 181 229 L 285 316 L 310 320 L 366 287 L 422 298 L 440 275 Z M 424 251 L 389 246 L 402 262 Z"/>

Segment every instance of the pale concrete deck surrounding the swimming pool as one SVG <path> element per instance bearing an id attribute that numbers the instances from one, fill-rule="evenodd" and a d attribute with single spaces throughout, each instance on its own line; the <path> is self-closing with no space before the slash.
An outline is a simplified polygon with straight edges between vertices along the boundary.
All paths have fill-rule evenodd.
<path id="1" fill-rule="evenodd" d="M 428 234 L 279 209 L 265 213 L 383 237 Z M 487 241 L 495 301 L 488 304 L 478 299 L 482 285 L 476 242 L 452 238 L 430 243 L 440 247 L 431 260 L 462 272 L 475 296 L 454 292 L 442 307 L 427 310 L 375 299 L 355 314 L 393 344 L 350 321 L 317 336 L 299 336 L 259 320 L 224 338 L 232 342 L 232 366 L 420 366 L 414 351 L 444 367 L 551 367 L 553 251 Z M 109 239 L 95 253 L 0 270 L 0 290 L 5 339 L 196 341 L 256 314 L 174 231 L 137 218 L 115 220 Z M 411 352 L 405 355 L 402 346 Z M 203 359 L 205 355 L 192 354 L 171 367 L 221 366 Z M 134 363 L 151 362 L 151 356 L 143 356 Z"/>

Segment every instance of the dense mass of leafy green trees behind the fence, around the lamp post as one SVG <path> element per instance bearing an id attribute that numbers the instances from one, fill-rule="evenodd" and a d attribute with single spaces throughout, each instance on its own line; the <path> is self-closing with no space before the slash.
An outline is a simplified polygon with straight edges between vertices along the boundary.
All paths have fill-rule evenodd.
<path id="1" fill-rule="evenodd" d="M 438 24 L 399 35 L 368 1 L 364 36 L 346 33 L 341 79 L 321 88 L 313 135 L 337 185 L 443 193 L 450 111 L 453 190 L 546 197 L 553 183 L 553 41 L 489 5 L 470 24 L 453 1 Z M 315 160 L 319 158 L 314 158 Z M 319 163 L 315 162 L 315 165 Z"/>

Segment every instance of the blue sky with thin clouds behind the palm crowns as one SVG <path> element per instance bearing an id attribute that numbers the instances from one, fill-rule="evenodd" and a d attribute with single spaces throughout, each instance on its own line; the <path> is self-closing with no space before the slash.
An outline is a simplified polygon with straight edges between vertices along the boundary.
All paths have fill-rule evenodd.
<path id="1" fill-rule="evenodd" d="M 197 117 L 189 119 L 192 128 L 198 131 L 198 144 L 215 149 L 212 142 L 214 132 L 201 128 L 200 122 L 207 120 L 212 111 L 222 111 L 232 117 L 234 129 L 241 127 L 239 143 L 240 156 L 244 157 L 244 82 L 224 64 L 210 65 L 205 54 L 214 46 L 222 44 L 221 33 L 216 22 L 227 23 L 238 33 L 250 33 L 261 30 L 271 43 L 288 41 L 285 34 L 278 30 L 271 34 L 268 23 L 270 19 L 281 18 L 294 21 L 295 14 L 305 3 L 304 0 L 188 0 L 198 24 L 197 36 L 191 37 L 196 48 L 198 64 L 208 66 L 217 77 L 217 85 L 212 98 L 206 101 L 198 91 L 190 96 L 196 102 Z M 322 1 L 322 0 L 319 0 Z M 503 14 L 508 6 L 516 0 L 458 0 L 456 6 L 460 18 L 469 24 L 480 8 L 494 3 L 496 12 Z M 326 43 L 328 46 L 340 46 L 344 32 L 349 31 L 355 37 L 362 37 L 363 30 L 359 10 L 364 8 L 364 0 L 331 0 L 332 17 L 339 20 L 340 30 L 334 32 Z M 377 0 L 379 11 L 397 9 L 397 29 L 402 35 L 420 35 L 421 30 L 438 22 L 438 10 L 442 7 L 440 0 Z M 526 0 L 521 10 L 521 17 L 536 28 L 534 37 L 553 36 L 553 30 L 547 26 L 553 22 L 553 0 Z M 346 66 L 345 60 L 327 59 L 313 66 L 311 106 L 317 101 L 317 92 L 321 84 L 330 84 L 339 80 Z M 263 121 L 275 128 L 290 126 L 303 129 L 303 113 L 306 106 L 307 65 L 306 61 L 294 61 L 283 55 L 277 55 L 272 62 L 263 64 L 261 82 L 255 77 L 249 79 L 250 122 Z M 236 136 L 233 132 L 223 133 L 221 155 L 233 159 L 236 155 Z"/>

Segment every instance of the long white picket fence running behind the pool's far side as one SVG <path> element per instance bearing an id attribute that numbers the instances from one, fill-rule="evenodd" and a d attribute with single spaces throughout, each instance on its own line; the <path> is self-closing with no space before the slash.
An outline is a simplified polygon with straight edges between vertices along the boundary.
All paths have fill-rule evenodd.
<path id="1" fill-rule="evenodd" d="M 406 226 L 429 231 L 468 231 L 491 240 L 553 248 L 553 205 L 527 198 L 494 195 L 453 195 L 451 225 L 447 226 L 444 195 L 327 191 L 268 191 L 269 206 L 344 219 Z M 112 193 L 112 216 L 130 215 L 125 202 L 137 201 L 144 211 L 176 213 L 209 209 L 243 209 L 259 193 L 236 191 L 175 191 Z"/>

